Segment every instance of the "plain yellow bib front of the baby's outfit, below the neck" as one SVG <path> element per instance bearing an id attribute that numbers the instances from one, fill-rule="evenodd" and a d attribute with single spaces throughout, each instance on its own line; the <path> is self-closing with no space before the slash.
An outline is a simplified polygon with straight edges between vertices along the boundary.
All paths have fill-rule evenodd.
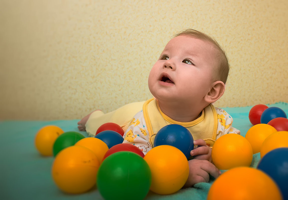
<path id="1" fill-rule="evenodd" d="M 169 124 L 179 124 L 186 127 L 194 140 L 203 139 L 210 147 L 213 146 L 216 135 L 218 118 L 215 107 L 210 104 L 202 110 L 201 116 L 192 122 L 178 122 L 164 114 L 156 99 L 147 100 L 143 104 L 143 114 L 149 132 L 149 142 L 153 148 L 156 133 Z"/>

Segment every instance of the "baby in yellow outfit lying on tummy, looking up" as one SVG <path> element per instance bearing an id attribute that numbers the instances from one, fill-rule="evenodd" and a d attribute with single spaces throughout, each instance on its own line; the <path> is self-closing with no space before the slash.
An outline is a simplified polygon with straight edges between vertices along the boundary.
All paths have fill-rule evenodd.
<path id="1" fill-rule="evenodd" d="M 150 71 L 148 86 L 155 98 L 144 104 L 128 104 L 108 114 L 95 111 L 95 117 L 86 116 L 89 118 L 86 130 L 95 119 L 115 122 L 121 118 L 119 110 L 123 114 L 130 107 L 133 112 L 141 109 L 134 117 L 132 112 L 125 115 L 127 119 L 122 117 L 120 125 L 126 130 L 123 143 L 136 145 L 146 154 L 153 148 L 155 135 L 162 127 L 182 125 L 193 135 L 195 146 L 190 152 L 194 159 L 188 161 L 190 170 L 185 187 L 208 182 L 209 174 L 215 178 L 221 174 L 211 159 L 215 140 L 227 133 L 240 134 L 232 127 L 232 117 L 212 105 L 223 95 L 228 73 L 228 59 L 216 40 L 193 29 L 184 30 L 166 44 Z M 78 124 L 79 129 L 85 127 L 81 121 Z M 98 126 L 94 126 L 91 135 L 95 135 Z"/>

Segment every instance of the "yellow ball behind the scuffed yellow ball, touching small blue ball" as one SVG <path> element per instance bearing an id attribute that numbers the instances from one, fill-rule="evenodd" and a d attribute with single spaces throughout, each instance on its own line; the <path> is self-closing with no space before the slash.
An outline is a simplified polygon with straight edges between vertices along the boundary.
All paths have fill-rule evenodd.
<path id="1" fill-rule="evenodd" d="M 109 149 L 105 142 L 95 137 L 80 139 L 75 143 L 75 146 L 76 145 L 90 149 L 96 155 L 100 164 L 102 163 L 103 157 Z"/>

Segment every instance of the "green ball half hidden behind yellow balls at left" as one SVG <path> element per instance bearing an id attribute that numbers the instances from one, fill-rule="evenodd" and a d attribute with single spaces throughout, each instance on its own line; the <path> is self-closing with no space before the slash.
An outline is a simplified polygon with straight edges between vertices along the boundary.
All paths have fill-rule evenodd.
<path id="1" fill-rule="evenodd" d="M 62 149 L 75 145 L 80 139 L 85 138 L 84 135 L 69 131 L 60 135 L 54 142 L 53 155 L 56 156 Z"/>

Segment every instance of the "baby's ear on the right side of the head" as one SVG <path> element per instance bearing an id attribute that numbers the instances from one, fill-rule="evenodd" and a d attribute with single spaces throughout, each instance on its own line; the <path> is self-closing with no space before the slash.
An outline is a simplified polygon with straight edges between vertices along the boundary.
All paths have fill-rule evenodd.
<path id="1" fill-rule="evenodd" d="M 225 84 L 222 81 L 215 81 L 211 90 L 204 97 L 204 100 L 208 103 L 213 103 L 224 94 L 224 91 Z"/>

